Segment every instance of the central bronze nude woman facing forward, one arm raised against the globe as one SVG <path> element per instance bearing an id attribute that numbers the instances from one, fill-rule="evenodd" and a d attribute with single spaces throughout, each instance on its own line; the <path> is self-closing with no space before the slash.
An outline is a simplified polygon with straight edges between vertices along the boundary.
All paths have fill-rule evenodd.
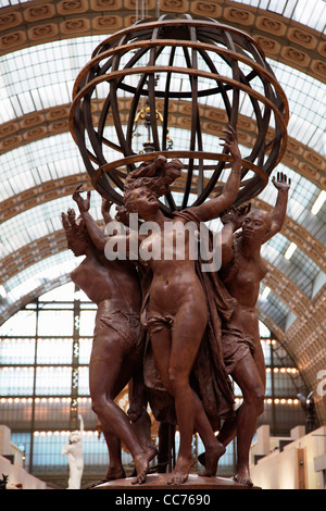
<path id="1" fill-rule="evenodd" d="M 201 222 L 220 215 L 236 199 L 240 184 L 241 155 L 235 130 L 229 127 L 224 138 L 224 146 L 233 155 L 233 169 L 223 192 L 215 199 L 191 208 Z M 173 163 L 168 164 L 173 166 Z M 175 162 L 177 165 L 177 162 Z M 180 445 L 176 465 L 170 475 L 170 484 L 183 484 L 187 481 L 193 463 L 191 457 L 191 439 L 196 431 L 201 436 L 206 449 L 206 465 L 204 475 L 215 475 L 218 458 L 225 452 L 225 447 L 217 440 L 204 413 L 198 395 L 192 390 L 189 376 L 196 360 L 202 336 L 208 323 L 206 298 L 196 274 L 195 261 L 189 254 L 190 239 L 187 233 L 181 233 L 185 221 L 175 216 L 166 219 L 160 210 L 158 194 L 153 187 L 125 184 L 125 205 L 129 213 L 137 212 L 146 222 L 154 223 L 159 228 L 154 237 L 159 239 L 162 257 L 149 260 L 153 273 L 146 325 L 149 333 L 154 360 L 166 390 L 173 396 L 180 432 Z M 173 258 L 164 260 L 164 248 L 174 247 L 178 232 L 171 230 L 171 237 L 164 237 L 166 222 L 178 222 L 179 234 L 185 239 L 185 259 L 177 260 L 176 251 Z M 139 236 L 139 244 L 151 241 Z M 153 244 L 154 245 L 154 244 Z"/>

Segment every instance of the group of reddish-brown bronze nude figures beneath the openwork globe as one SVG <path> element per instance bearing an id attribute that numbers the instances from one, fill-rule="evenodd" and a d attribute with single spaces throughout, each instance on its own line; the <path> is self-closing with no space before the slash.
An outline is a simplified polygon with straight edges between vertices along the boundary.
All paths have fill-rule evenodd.
<path id="1" fill-rule="evenodd" d="M 193 464 L 191 439 L 197 432 L 205 448 L 200 460 L 205 468 L 202 475 L 215 476 L 226 445 L 237 437 L 235 479 L 252 486 L 249 450 L 265 392 L 255 313 L 260 283 L 266 274 L 260 251 L 283 226 L 290 182 L 283 174 L 273 179 L 278 198 L 272 215 L 250 211 L 249 205 L 233 208 L 240 186 L 241 155 L 231 127 L 223 140 L 233 166 L 222 194 L 176 212 L 172 219 L 160 210 L 158 197 L 178 177 L 178 160 L 168 163 L 159 158 L 127 176 L 125 211 L 120 209 L 120 219 L 137 213 L 140 222 L 155 228 L 151 235 L 141 229 L 115 233 L 116 245 L 124 237 L 126 258 L 108 259 L 108 234 L 89 214 L 90 194 L 84 199 L 80 187 L 74 192 L 78 219 L 73 210 L 62 213 L 68 248 L 75 256 L 86 256 L 72 272 L 72 279 L 98 306 L 89 386 L 110 452 L 105 481 L 125 477 L 121 441 L 133 456 L 135 483 L 146 481 L 149 462 L 156 456 L 149 436 L 149 402 L 155 419 L 179 429 L 180 445 L 167 476 L 170 484 L 187 481 Z M 106 224 L 112 221 L 111 205 L 103 200 Z M 203 272 L 199 258 L 189 257 L 196 233 L 186 226 L 192 222 L 200 230 L 216 217 L 223 222 L 221 267 Z M 214 237 L 210 240 L 216 241 Z M 142 247 L 141 253 L 151 257 L 130 257 L 135 242 L 138 249 Z M 243 396 L 236 411 L 230 377 Z M 129 382 L 130 416 L 114 402 Z"/>

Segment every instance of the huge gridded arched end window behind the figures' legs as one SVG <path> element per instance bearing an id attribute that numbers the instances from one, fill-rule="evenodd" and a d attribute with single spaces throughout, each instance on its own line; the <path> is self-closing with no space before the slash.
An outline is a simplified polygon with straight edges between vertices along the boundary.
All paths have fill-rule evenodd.
<path id="1" fill-rule="evenodd" d="M 72 429 L 72 409 L 82 414 L 85 425 L 85 475 L 97 470 L 102 474 L 106 470 L 108 449 L 103 436 L 98 438 L 97 417 L 89 397 L 88 363 L 95 314 L 95 304 L 68 283 L 27 304 L 1 328 L 1 419 L 12 429 L 12 441 L 20 444 L 25 451 L 26 469 L 38 476 L 51 476 L 62 473 L 64 468 L 67 470 L 61 450 Z M 283 435 L 300 421 L 304 424 L 304 414 L 297 399 L 302 382 L 269 329 L 263 323 L 260 329 L 266 363 L 266 399 L 259 425 L 267 423 L 272 434 Z M 78 349 L 74 358 L 76 342 Z M 75 383 L 73 373 L 78 376 Z M 242 396 L 236 384 L 234 391 L 239 406 Z M 118 400 L 126 411 L 126 390 Z M 76 427 L 78 424 L 74 424 L 73 428 Z M 156 431 L 154 422 L 153 429 Z M 195 454 L 204 450 L 197 435 L 192 448 Z M 235 452 L 235 443 L 231 443 L 220 460 L 220 475 L 233 473 Z M 133 466 L 130 454 L 123 452 L 123 459 L 127 466 Z"/>

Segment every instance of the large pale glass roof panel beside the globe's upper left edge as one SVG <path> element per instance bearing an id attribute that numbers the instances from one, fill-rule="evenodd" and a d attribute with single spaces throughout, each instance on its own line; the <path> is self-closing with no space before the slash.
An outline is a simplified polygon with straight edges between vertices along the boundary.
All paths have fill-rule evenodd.
<path id="1" fill-rule="evenodd" d="M 70 103 L 75 78 L 103 36 L 58 40 L 0 58 L 0 123 Z"/>

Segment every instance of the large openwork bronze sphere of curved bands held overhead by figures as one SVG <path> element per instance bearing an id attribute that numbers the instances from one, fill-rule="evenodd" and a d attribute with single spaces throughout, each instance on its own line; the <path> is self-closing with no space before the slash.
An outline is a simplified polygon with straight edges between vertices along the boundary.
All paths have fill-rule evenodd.
<path id="1" fill-rule="evenodd" d="M 288 119 L 258 42 L 184 14 L 140 21 L 99 45 L 75 80 L 70 128 L 93 187 L 116 204 L 140 162 L 181 160 L 160 202 L 171 216 L 221 192 L 233 161 L 218 140 L 227 125 L 239 135 L 251 126 L 235 205 L 258 196 L 285 153 Z"/>

